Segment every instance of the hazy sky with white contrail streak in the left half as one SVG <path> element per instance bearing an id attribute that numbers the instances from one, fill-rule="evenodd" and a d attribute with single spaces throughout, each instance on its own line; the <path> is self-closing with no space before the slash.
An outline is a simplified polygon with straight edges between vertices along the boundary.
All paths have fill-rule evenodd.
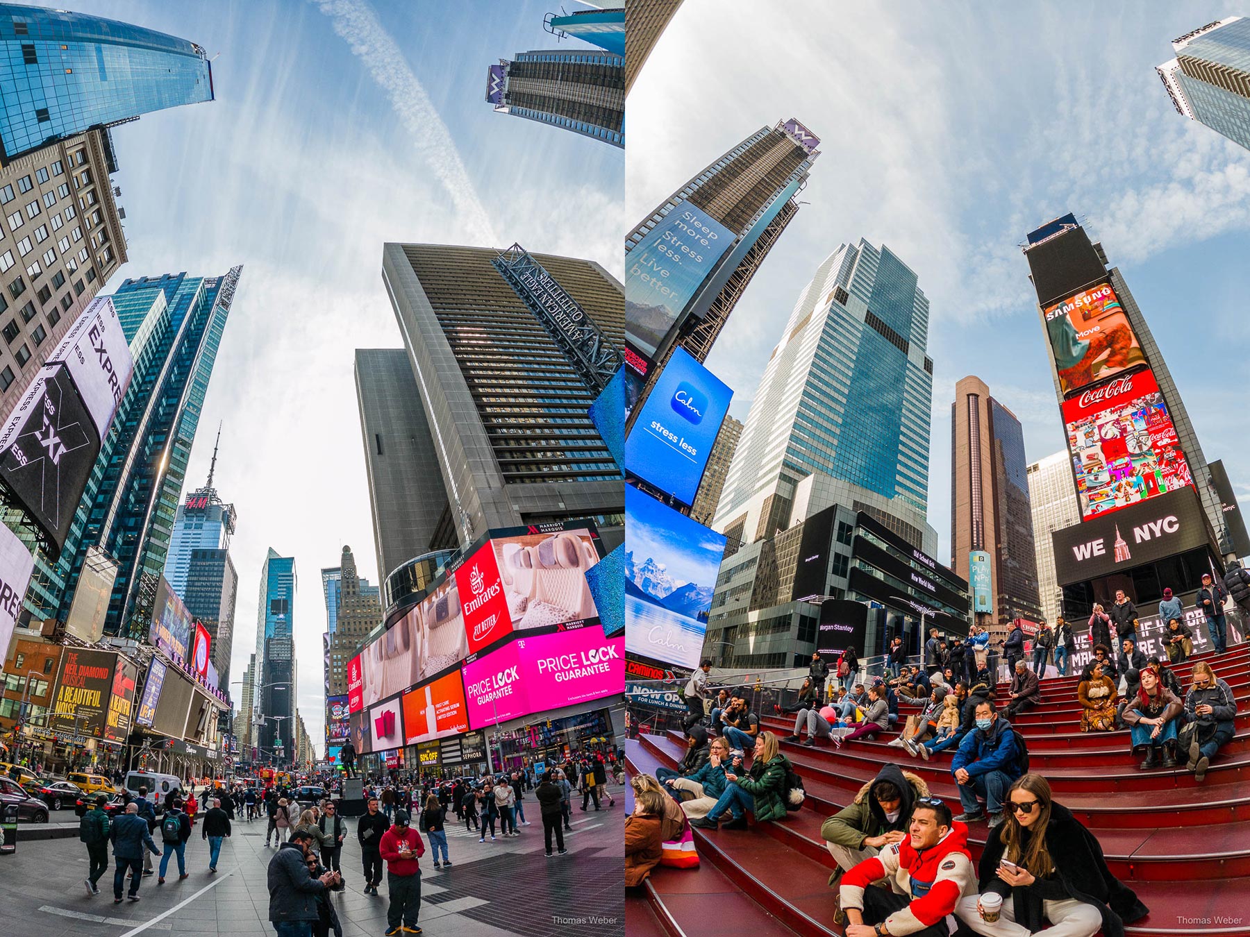
<path id="1" fill-rule="evenodd" d="M 570 4 L 569 9 L 578 9 Z M 81 0 L 190 39 L 216 101 L 114 130 L 124 277 L 242 264 L 188 473 L 239 508 L 231 680 L 255 646 L 265 551 L 294 555 L 300 710 L 322 732 L 320 570 L 378 581 L 352 350 L 399 347 L 388 240 L 590 257 L 619 275 L 624 155 L 485 102 L 486 66 L 551 47 L 549 2 Z M 566 40 L 576 44 L 576 40 Z"/>

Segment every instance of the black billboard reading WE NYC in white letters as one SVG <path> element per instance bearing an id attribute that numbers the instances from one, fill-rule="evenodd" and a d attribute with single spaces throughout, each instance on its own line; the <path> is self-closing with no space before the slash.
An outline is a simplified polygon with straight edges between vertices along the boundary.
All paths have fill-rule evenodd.
<path id="1" fill-rule="evenodd" d="M 1060 586 L 1155 562 L 1210 542 L 1194 488 L 1170 491 L 1112 516 L 1092 517 L 1051 535 Z"/>

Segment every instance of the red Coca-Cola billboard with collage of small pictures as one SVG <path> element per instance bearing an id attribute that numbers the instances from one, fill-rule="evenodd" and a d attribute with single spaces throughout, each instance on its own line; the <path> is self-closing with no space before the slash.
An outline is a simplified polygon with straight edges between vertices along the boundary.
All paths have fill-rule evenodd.
<path id="1" fill-rule="evenodd" d="M 1151 371 L 1086 390 L 1062 412 L 1082 518 L 1194 483 Z"/>

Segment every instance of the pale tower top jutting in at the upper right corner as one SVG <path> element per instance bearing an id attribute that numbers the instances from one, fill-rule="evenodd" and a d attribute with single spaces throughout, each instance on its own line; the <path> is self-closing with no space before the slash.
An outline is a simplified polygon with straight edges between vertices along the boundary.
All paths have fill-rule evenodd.
<path id="1" fill-rule="evenodd" d="M 1178 114 L 1250 150 L 1250 20 L 1229 16 L 1172 40 L 1155 71 Z"/>

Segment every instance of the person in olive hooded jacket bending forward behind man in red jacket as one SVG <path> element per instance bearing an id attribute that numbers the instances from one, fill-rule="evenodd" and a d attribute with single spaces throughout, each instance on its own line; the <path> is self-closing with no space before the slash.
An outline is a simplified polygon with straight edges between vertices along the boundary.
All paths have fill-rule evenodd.
<path id="1" fill-rule="evenodd" d="M 911 808 L 920 797 L 928 796 L 929 785 L 919 776 L 898 765 L 885 765 L 859 790 L 850 806 L 820 827 L 829 855 L 838 863 L 829 887 L 838 888 L 842 872 L 906 840 Z"/>

